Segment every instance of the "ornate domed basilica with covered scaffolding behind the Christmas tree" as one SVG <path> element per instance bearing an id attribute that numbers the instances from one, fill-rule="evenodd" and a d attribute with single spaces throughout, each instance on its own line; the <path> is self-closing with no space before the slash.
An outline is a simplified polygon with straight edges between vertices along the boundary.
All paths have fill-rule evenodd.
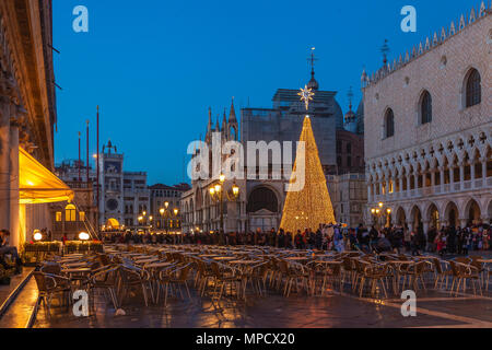
<path id="1" fill-rule="evenodd" d="M 339 104 L 336 101 L 336 92 L 319 90 L 318 82 L 312 71 L 312 80 L 308 86 L 315 92 L 314 101 L 309 105 L 307 114 L 312 118 L 313 130 L 318 145 L 319 158 L 327 175 L 328 187 L 330 195 L 332 192 L 340 194 L 343 191 L 344 196 L 337 195 L 336 198 L 344 198 L 343 205 L 333 202 L 333 208 L 337 206 L 341 209 L 337 220 L 348 219 L 350 224 L 359 223 L 362 218 L 362 209 L 358 209 L 360 200 L 365 206 L 365 196 L 361 195 L 356 203 L 352 202 L 353 194 L 359 191 L 350 190 L 354 185 L 361 187 L 363 180 L 364 170 L 364 153 L 363 153 L 363 136 L 358 132 L 363 132 L 363 129 L 358 129 L 361 118 L 354 113 L 348 114 L 345 120 Z M 283 144 L 284 141 L 293 142 L 292 148 L 292 163 L 295 161 L 296 142 L 298 141 L 303 117 L 306 114 L 304 103 L 300 101 L 298 90 L 279 89 L 274 94 L 271 108 L 243 108 L 241 110 L 241 130 L 238 130 L 238 122 L 235 115 L 234 104 L 231 107 L 229 120 L 224 114 L 222 128 L 219 120 L 213 127 L 211 113 L 209 113 L 209 125 L 204 142 L 211 144 L 212 133 L 221 133 L 222 144 L 231 140 L 239 140 L 243 149 L 248 149 L 248 142 L 265 142 L 266 145 L 272 141 L 278 141 Z M 347 116 L 345 116 L 347 118 Z M 354 125 L 354 132 L 347 131 L 344 127 Z M 239 131 L 239 132 L 238 132 Z M 238 138 L 241 135 L 241 138 Z M 337 138 L 343 145 L 343 164 L 337 164 Z M 199 150 L 197 150 L 199 152 Z M 257 175 L 268 174 L 267 178 L 260 179 L 259 176 L 251 178 L 232 178 L 225 180 L 225 188 L 230 190 L 233 184 L 239 187 L 239 197 L 236 200 L 225 200 L 223 203 L 224 213 L 224 230 L 232 231 L 255 231 L 257 229 L 269 231 L 272 228 L 278 230 L 282 217 L 283 203 L 286 197 L 285 185 L 289 179 L 273 178 L 273 168 L 280 168 L 282 174 L 285 171 L 285 164 L 277 164 L 269 152 L 266 156 L 267 164 L 260 164 L 260 152 L 256 152 L 253 158 L 249 158 L 248 152 L 245 151 L 244 170 L 247 173 L 248 166 L 256 167 Z M 222 158 L 222 162 L 226 161 L 227 156 Z M 353 161 L 352 161 L 353 159 Z M 210 162 L 211 164 L 212 162 Z M 210 165 L 211 166 L 211 165 Z M 343 178 L 338 178 L 338 174 L 356 173 L 355 176 L 348 175 Z M 362 182 L 361 182 L 362 176 Z M 355 179 L 356 177 L 356 179 Z M 213 198 L 210 197 L 209 189 L 216 184 L 218 179 L 199 179 L 192 182 L 192 189 L 185 192 L 181 201 L 181 210 L 184 212 L 184 231 L 215 231 L 220 228 L 220 207 Z M 359 188 L 358 187 L 358 188 Z M 352 195 L 350 195 L 352 194 Z M 361 192 L 362 194 L 362 192 Z M 331 198 L 333 200 L 333 197 Z M 342 211 L 343 215 L 342 215 Z M 355 210 L 356 212 L 351 212 Z M 336 209 L 337 212 L 337 209 Z"/>

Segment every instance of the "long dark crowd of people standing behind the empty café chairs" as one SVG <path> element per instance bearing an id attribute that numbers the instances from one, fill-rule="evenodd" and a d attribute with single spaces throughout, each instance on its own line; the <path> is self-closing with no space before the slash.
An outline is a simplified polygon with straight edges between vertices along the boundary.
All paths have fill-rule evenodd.
<path id="1" fill-rule="evenodd" d="M 425 234 L 422 226 L 410 230 L 408 226 L 393 225 L 378 229 L 365 228 L 362 224 L 355 229 L 342 225 L 326 224 L 318 230 L 298 230 L 295 234 L 282 229 L 255 232 L 184 233 L 125 233 L 110 234 L 106 242 L 126 244 L 203 244 L 203 245 L 257 245 L 273 246 L 286 249 L 318 249 L 318 250 L 350 250 L 363 252 L 396 252 L 420 255 L 422 253 L 437 253 L 468 255 L 471 250 L 492 249 L 492 226 L 487 224 L 468 225 L 467 228 L 442 226 L 431 228 Z"/>

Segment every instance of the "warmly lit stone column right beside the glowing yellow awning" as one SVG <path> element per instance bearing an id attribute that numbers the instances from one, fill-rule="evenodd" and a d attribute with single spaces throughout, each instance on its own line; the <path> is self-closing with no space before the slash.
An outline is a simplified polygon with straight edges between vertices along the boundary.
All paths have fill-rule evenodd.
<path id="1" fill-rule="evenodd" d="M 15 119 L 10 124 L 10 238 L 11 245 L 20 248 L 19 222 L 19 124 Z"/>

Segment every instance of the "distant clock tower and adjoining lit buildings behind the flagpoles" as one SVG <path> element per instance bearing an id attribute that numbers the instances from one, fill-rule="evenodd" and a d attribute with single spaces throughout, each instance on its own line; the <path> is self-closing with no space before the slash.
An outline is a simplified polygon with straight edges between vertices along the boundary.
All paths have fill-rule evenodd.
<path id="1" fill-rule="evenodd" d="M 99 153 L 99 201 L 97 205 L 96 170 L 84 162 L 65 161 L 56 167 L 57 175 L 73 189 L 75 207 L 73 217 L 67 213 L 72 207 L 69 203 L 51 205 L 51 219 L 55 222 L 55 235 L 62 232 L 73 233 L 77 230 L 134 230 L 152 229 L 164 231 L 165 223 L 174 229 L 179 223 L 181 194 L 189 185 L 166 186 L 162 184 L 148 186 L 145 172 L 128 172 L 124 170 L 125 154 L 118 153 L 116 145 L 108 141 Z M 89 176 L 89 177 L 87 177 Z M 165 202 L 168 202 L 166 210 Z M 66 210 L 66 207 L 68 208 Z M 97 213 L 98 208 L 98 215 Z M 164 209 L 164 213 L 161 210 Z M 166 220 L 168 219 L 168 220 Z M 79 231 L 80 232 L 80 231 Z"/>

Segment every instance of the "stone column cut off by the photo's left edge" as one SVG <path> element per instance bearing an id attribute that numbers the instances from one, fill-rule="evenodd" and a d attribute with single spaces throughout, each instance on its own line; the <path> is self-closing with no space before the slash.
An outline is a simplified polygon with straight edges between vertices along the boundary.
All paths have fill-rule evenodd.
<path id="1" fill-rule="evenodd" d="M 10 230 L 10 98 L 0 97 L 0 230 Z"/>

